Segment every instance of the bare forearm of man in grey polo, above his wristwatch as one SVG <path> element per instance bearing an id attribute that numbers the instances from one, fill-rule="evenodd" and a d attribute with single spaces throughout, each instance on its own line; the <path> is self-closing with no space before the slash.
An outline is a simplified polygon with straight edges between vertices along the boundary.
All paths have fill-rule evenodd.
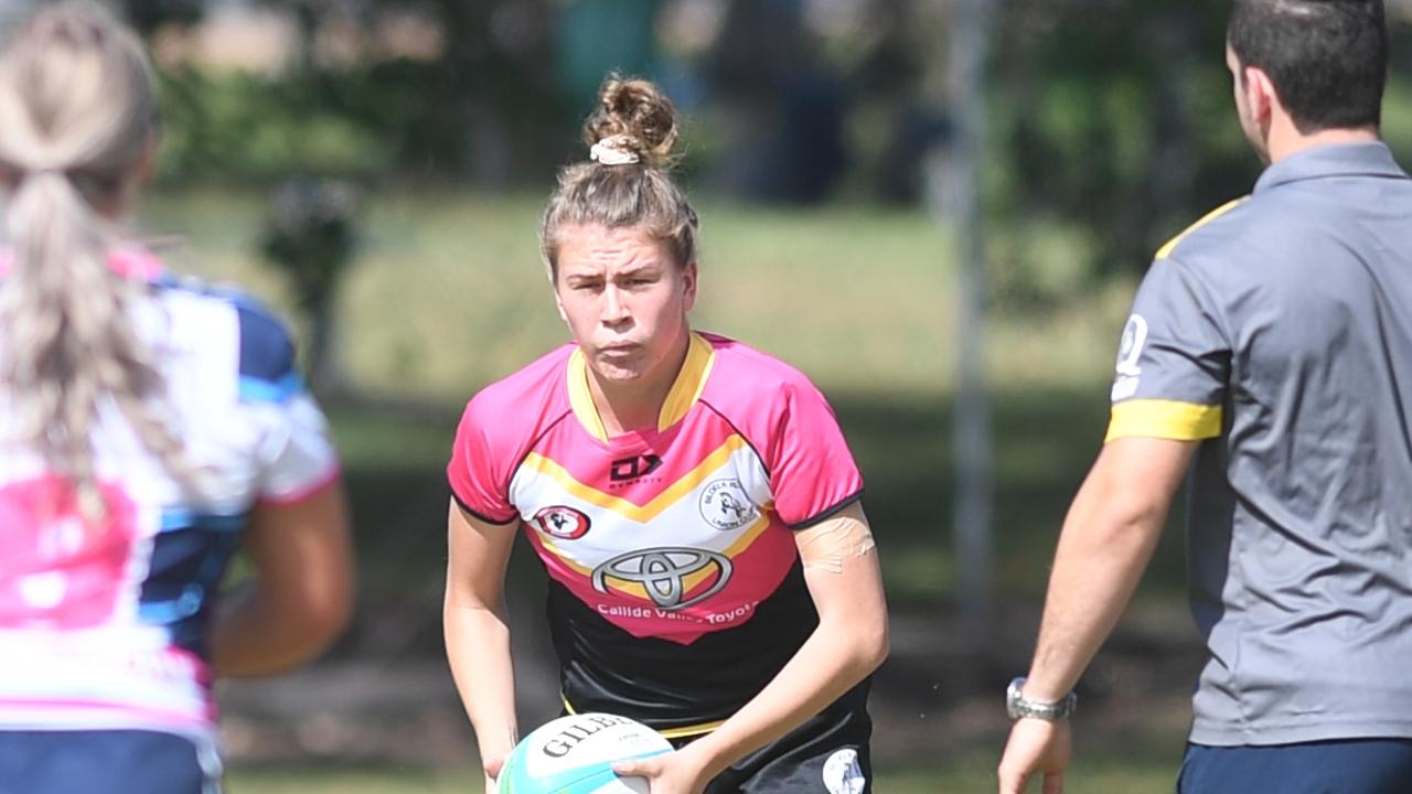
<path id="1" fill-rule="evenodd" d="M 1063 698 L 1123 615 L 1156 548 L 1166 502 L 1090 476 L 1065 519 L 1025 694 Z"/>

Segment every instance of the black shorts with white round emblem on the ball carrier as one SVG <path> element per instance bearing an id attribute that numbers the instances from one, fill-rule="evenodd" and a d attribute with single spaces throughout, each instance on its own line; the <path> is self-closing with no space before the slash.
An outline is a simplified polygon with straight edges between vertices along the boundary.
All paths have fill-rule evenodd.
<path id="1" fill-rule="evenodd" d="M 731 764 L 706 786 L 706 794 L 871 794 L 867 701 L 864 681 L 799 728 Z"/>

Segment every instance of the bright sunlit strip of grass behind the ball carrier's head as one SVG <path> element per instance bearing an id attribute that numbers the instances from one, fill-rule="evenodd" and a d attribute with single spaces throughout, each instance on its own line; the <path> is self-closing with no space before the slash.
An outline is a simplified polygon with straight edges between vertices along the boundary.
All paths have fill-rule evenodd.
<path id="1" fill-rule="evenodd" d="M 340 304 L 342 359 L 360 384 L 465 400 L 565 340 L 538 254 L 539 201 L 393 192 L 366 202 Z M 244 283 L 288 312 L 258 260 L 263 212 L 260 195 L 184 192 L 152 196 L 141 218 L 188 240 L 178 267 Z M 784 357 L 826 390 L 943 394 L 969 333 L 984 335 L 997 387 L 1101 381 L 1131 292 L 1079 290 L 1041 314 L 1000 305 L 984 329 L 960 329 L 953 240 L 921 212 L 707 202 L 700 213 L 693 322 Z"/>

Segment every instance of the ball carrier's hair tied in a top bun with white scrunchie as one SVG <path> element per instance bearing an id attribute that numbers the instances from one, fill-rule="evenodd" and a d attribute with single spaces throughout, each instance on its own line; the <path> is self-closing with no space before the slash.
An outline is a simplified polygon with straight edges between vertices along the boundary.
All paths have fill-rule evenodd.
<path id="1" fill-rule="evenodd" d="M 609 75 L 599 89 L 599 107 L 583 124 L 594 160 L 559 172 L 559 188 L 539 225 L 539 251 L 551 278 L 558 277 L 563 226 L 640 226 L 668 244 L 679 267 L 696 260 L 700 223 L 669 175 L 678 136 L 676 109 L 662 89 Z M 614 157 L 600 160 L 603 147 Z"/>

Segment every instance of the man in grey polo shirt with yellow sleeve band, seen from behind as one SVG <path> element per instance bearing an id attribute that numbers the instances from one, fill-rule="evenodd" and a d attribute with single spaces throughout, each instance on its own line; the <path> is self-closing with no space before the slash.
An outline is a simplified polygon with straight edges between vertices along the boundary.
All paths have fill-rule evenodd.
<path id="1" fill-rule="evenodd" d="M 1072 691 L 1190 469 L 1209 658 L 1183 794 L 1412 791 L 1412 179 L 1378 140 L 1381 0 L 1236 0 L 1269 164 L 1156 254 L 1065 520 L 1000 791 L 1060 791 Z"/>

